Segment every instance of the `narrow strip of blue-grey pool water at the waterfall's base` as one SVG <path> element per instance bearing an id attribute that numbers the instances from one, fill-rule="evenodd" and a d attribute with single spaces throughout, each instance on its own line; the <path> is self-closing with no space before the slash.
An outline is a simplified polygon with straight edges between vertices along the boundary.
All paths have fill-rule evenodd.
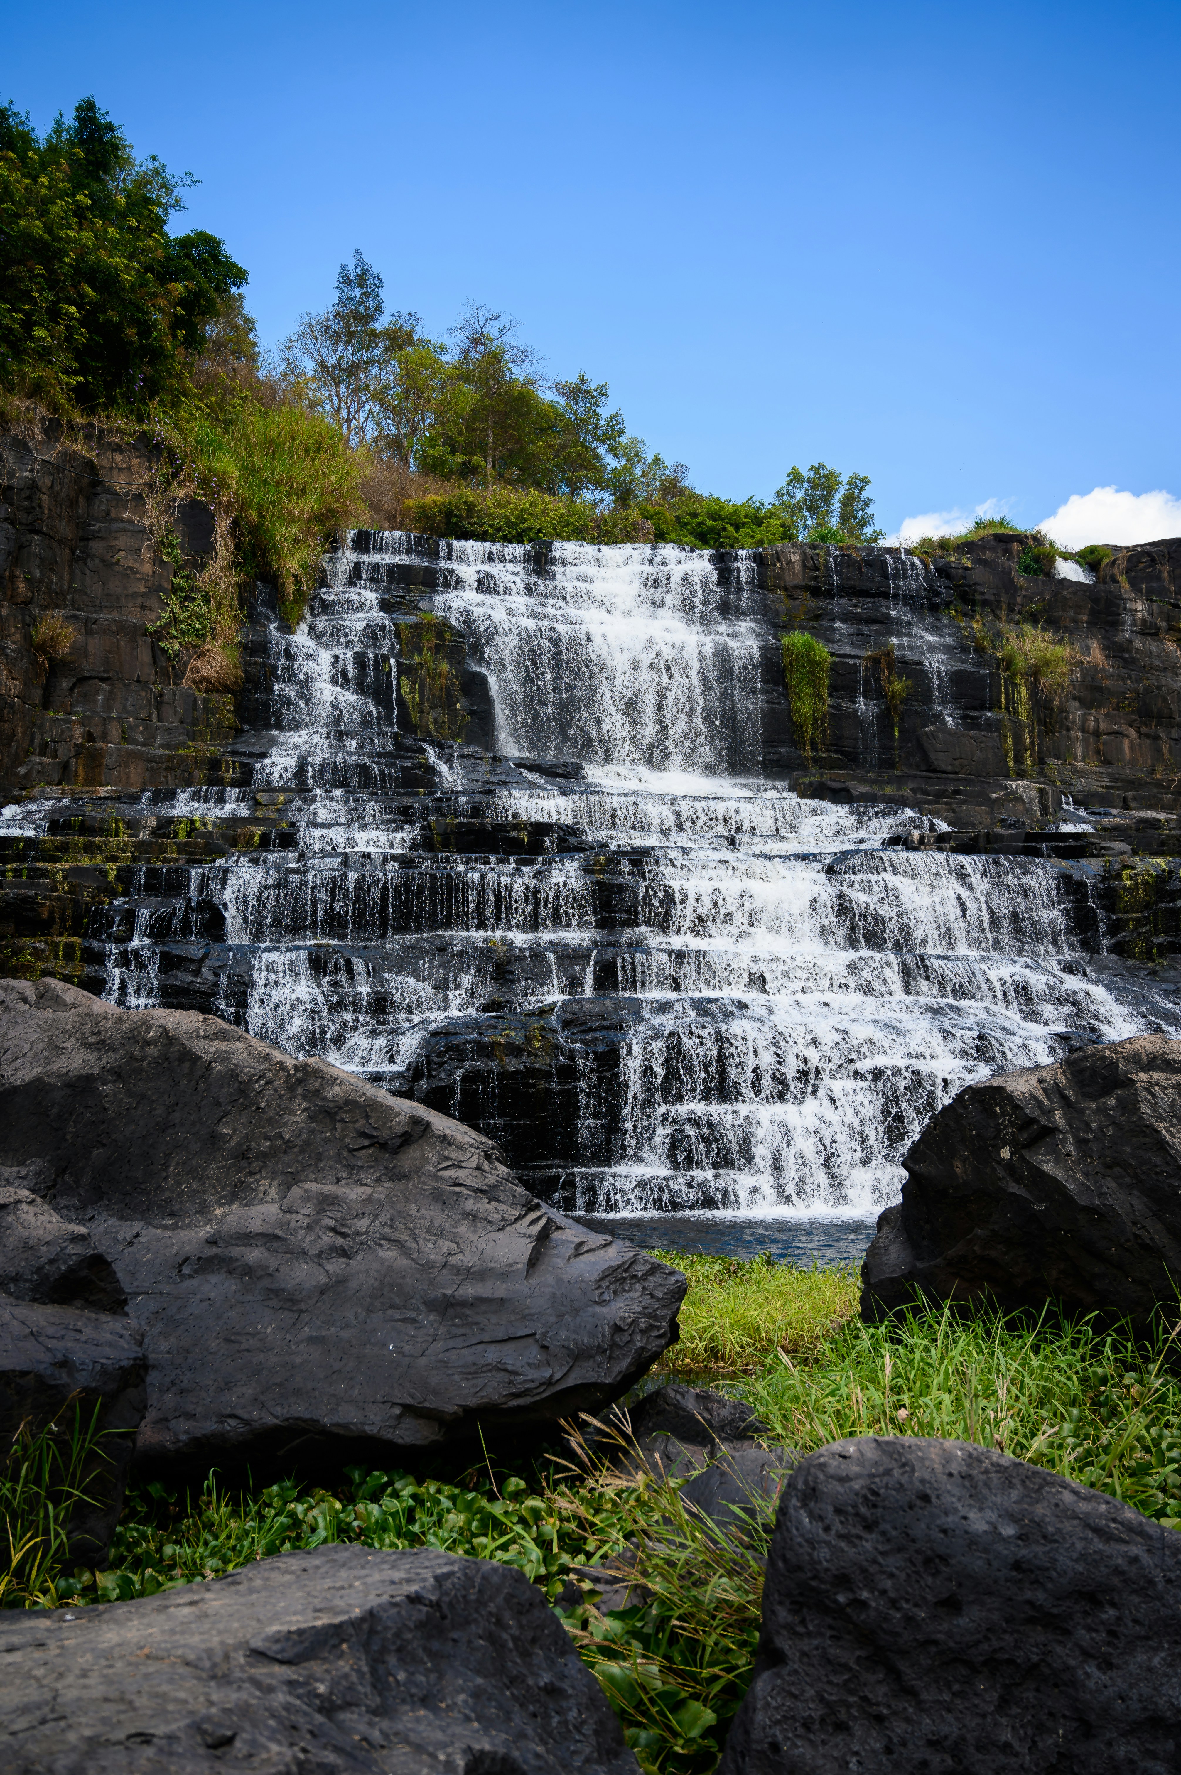
<path id="1" fill-rule="evenodd" d="M 703 1251 L 707 1257 L 762 1257 L 780 1264 L 860 1264 L 877 1218 L 835 1214 L 572 1214 L 645 1251 Z"/>

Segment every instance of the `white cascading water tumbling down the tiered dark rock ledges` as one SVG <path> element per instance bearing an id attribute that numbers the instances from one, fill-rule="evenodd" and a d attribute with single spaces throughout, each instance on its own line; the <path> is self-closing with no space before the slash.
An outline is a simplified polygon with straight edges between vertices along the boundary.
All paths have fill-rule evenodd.
<path id="1" fill-rule="evenodd" d="M 282 841 L 163 872 L 110 944 L 112 998 L 149 1001 L 160 946 L 204 941 L 222 1015 L 480 1120 L 584 1212 L 874 1214 L 964 1083 L 1142 1028 L 1051 863 L 908 848 L 938 822 L 760 779 L 741 557 L 440 545 L 424 604 L 495 735 L 414 740 L 408 792 L 414 550 L 364 532 L 273 627 L 277 737 L 233 793 L 279 808 Z M 201 793 L 195 818 L 242 813 Z"/>

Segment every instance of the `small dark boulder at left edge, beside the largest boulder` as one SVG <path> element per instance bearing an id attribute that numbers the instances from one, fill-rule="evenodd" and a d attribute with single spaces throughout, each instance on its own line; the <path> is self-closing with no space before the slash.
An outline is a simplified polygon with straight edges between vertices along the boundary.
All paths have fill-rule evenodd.
<path id="1" fill-rule="evenodd" d="M 21 1431 L 44 1436 L 69 1558 L 87 1566 L 105 1562 L 123 1509 L 147 1404 L 142 1344 L 139 1326 L 117 1314 L 0 1294 L 0 1464 Z"/>

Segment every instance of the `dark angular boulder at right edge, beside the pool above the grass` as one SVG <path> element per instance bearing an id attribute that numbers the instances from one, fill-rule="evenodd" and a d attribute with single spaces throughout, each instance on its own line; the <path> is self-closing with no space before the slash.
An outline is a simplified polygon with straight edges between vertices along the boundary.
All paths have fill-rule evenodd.
<path id="1" fill-rule="evenodd" d="M 1145 1324 L 1181 1283 L 1181 1042 L 1138 1035 L 970 1085 L 904 1159 L 863 1317 L 1058 1301 Z"/>

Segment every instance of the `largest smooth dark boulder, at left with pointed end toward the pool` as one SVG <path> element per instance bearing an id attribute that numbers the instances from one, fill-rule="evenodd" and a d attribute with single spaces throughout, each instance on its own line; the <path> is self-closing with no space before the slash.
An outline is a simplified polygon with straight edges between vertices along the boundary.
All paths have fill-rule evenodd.
<path id="1" fill-rule="evenodd" d="M 490 1141 L 197 1012 L 0 980 L 0 1166 L 126 1287 L 147 1459 L 593 1411 L 677 1335 L 684 1278 Z"/>

